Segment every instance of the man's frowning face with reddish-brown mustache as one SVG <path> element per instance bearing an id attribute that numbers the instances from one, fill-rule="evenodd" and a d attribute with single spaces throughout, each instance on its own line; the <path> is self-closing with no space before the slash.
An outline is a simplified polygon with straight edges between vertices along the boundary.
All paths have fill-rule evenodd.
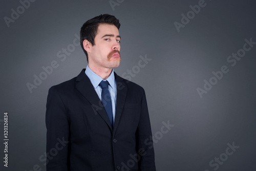
<path id="1" fill-rule="evenodd" d="M 115 25 L 99 24 L 89 53 L 89 65 L 98 69 L 116 68 L 121 61 L 120 35 Z"/>

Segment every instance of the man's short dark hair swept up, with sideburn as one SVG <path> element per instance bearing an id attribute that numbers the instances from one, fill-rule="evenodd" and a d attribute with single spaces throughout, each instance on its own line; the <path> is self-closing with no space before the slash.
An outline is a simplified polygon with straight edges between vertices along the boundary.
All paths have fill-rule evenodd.
<path id="1" fill-rule="evenodd" d="M 94 39 L 98 31 L 99 24 L 110 24 L 115 25 L 117 29 L 120 28 L 119 20 L 110 14 L 101 14 L 92 19 L 89 19 L 86 23 L 84 23 L 81 27 L 80 31 L 80 45 L 82 47 L 83 52 L 86 54 L 88 61 L 87 51 L 83 48 L 83 40 L 88 40 L 92 46 L 95 45 Z"/>

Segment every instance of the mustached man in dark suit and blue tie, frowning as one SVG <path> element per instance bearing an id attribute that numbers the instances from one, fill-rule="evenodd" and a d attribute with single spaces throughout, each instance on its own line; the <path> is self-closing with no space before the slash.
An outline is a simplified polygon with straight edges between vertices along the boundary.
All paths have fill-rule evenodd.
<path id="1" fill-rule="evenodd" d="M 145 92 L 113 71 L 121 60 L 119 27 L 109 14 L 84 23 L 87 68 L 49 90 L 48 171 L 156 170 Z"/>

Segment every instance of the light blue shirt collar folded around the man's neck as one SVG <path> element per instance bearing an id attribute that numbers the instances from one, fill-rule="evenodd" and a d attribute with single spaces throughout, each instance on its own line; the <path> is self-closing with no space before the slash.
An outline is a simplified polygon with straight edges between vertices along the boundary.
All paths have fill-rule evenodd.
<path id="1" fill-rule="evenodd" d="M 94 89 L 96 89 L 99 86 L 99 83 L 104 80 L 102 79 L 100 76 L 98 76 L 96 73 L 94 73 L 89 66 L 87 65 L 86 67 L 86 75 L 88 76 L 88 78 L 90 79 L 91 83 L 93 84 Z M 110 76 L 106 79 L 107 81 L 109 81 L 110 86 L 112 89 L 115 88 L 115 75 L 114 75 L 114 69 L 112 69 L 112 72 L 110 74 Z"/>

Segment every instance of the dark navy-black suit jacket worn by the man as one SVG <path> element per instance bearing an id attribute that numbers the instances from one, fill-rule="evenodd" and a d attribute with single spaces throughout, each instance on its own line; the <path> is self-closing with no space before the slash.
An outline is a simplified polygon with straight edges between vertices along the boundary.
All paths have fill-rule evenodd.
<path id="1" fill-rule="evenodd" d="M 145 92 L 119 77 L 115 124 L 81 73 L 49 89 L 47 170 L 156 170 Z"/>

